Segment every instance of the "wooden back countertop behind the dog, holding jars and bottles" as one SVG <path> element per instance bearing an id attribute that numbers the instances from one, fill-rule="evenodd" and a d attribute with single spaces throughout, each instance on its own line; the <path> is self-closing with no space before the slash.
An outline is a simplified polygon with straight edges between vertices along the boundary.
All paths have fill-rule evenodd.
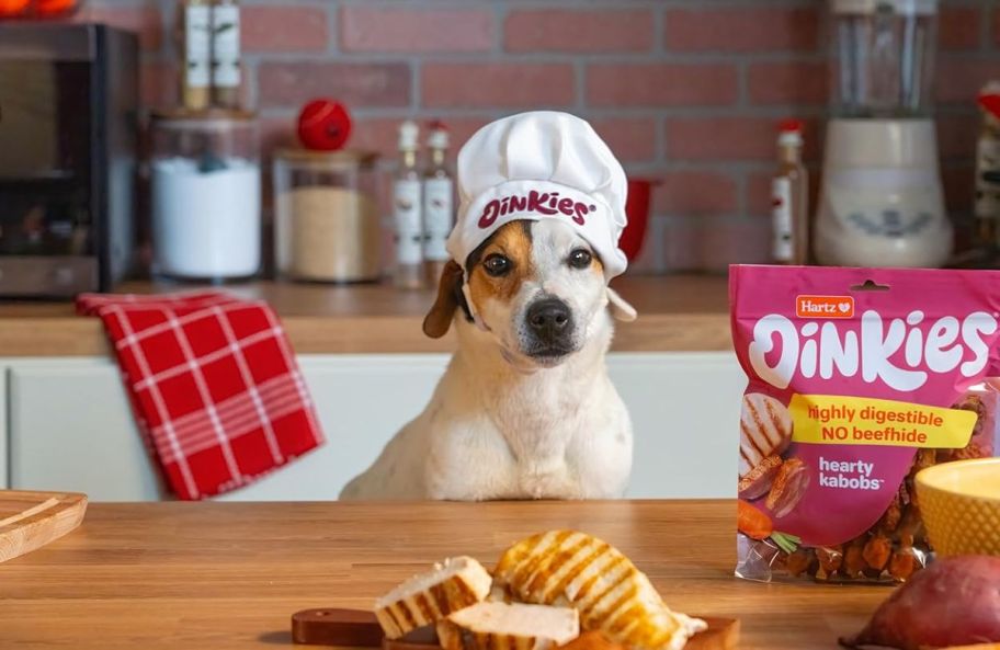
<path id="1" fill-rule="evenodd" d="M 723 276 L 623 277 L 614 286 L 639 311 L 620 323 L 612 349 L 648 352 L 729 350 L 728 297 Z M 126 284 L 121 293 L 191 290 L 178 285 Z M 325 286 L 260 282 L 228 285 L 264 298 L 281 316 L 299 354 L 450 352 L 451 334 L 421 331 L 433 294 L 387 285 Z M 0 357 L 99 356 L 109 347 L 96 318 L 75 316 L 70 303 L 0 303 Z"/>

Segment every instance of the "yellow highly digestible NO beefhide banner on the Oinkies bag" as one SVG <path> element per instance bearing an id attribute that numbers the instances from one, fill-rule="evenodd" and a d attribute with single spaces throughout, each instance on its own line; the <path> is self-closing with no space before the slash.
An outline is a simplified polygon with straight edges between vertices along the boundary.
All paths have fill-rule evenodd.
<path id="1" fill-rule="evenodd" d="M 961 448 L 976 413 L 889 399 L 795 395 L 788 404 L 792 440 L 825 445 Z"/>

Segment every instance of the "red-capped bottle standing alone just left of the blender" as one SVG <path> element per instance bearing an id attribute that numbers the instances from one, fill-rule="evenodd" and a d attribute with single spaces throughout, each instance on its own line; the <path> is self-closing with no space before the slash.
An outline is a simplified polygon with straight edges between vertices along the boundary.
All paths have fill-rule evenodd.
<path id="1" fill-rule="evenodd" d="M 808 264 L 809 180 L 802 162 L 802 123 L 786 119 L 779 128 L 777 170 L 771 181 L 771 255 L 779 264 Z"/>

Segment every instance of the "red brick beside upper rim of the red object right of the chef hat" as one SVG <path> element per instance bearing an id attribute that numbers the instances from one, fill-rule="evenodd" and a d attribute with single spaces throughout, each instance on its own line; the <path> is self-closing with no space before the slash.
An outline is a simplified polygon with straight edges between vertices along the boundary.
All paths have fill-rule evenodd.
<path id="1" fill-rule="evenodd" d="M 712 171 L 674 171 L 659 176 L 654 210 L 660 215 L 725 215 L 737 209 L 736 182 Z"/>

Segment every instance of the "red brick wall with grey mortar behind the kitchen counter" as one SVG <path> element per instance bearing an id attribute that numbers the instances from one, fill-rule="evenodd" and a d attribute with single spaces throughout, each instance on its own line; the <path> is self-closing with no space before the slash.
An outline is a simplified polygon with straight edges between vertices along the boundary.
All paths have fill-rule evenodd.
<path id="1" fill-rule="evenodd" d="M 774 123 L 807 121 L 818 174 L 822 0 L 243 0 L 246 95 L 268 147 L 315 95 L 348 102 L 353 146 L 391 155 L 405 117 L 458 141 L 525 109 L 591 119 L 629 173 L 661 181 L 638 271 L 766 259 Z M 175 100 L 172 0 L 90 0 L 136 28 L 147 105 Z M 974 98 L 1000 78 L 1000 2 L 943 0 L 938 121 L 951 212 L 967 224 Z M 814 187 L 818 182 L 814 182 Z"/>

